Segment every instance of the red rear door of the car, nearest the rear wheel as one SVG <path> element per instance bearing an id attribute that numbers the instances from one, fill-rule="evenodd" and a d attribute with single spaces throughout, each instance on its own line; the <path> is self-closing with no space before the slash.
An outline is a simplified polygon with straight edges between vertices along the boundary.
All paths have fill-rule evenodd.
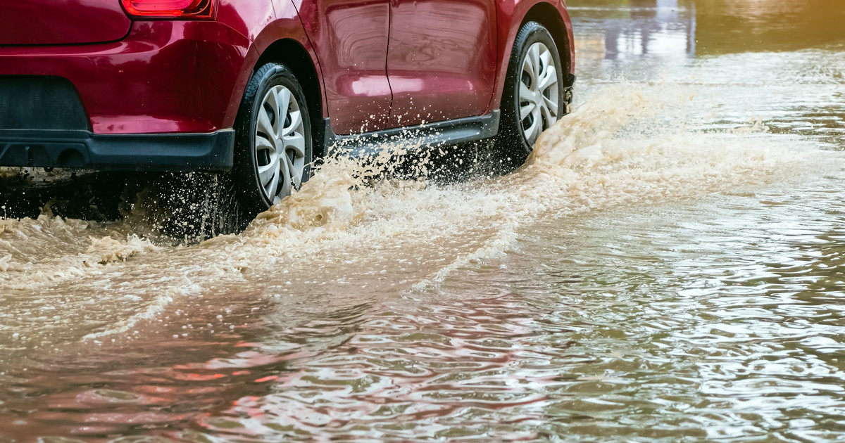
<path id="1" fill-rule="evenodd" d="M 337 134 L 384 129 L 389 0 L 293 0 L 323 72 L 331 128 Z"/>

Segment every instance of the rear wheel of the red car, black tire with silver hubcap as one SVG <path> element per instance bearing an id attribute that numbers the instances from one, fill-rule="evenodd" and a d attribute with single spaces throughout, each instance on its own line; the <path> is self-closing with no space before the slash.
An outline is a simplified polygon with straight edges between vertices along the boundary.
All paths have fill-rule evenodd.
<path id="1" fill-rule="evenodd" d="M 292 71 L 267 63 L 255 71 L 235 124 L 232 179 L 238 201 L 254 216 L 291 194 L 311 174 L 308 103 Z"/>

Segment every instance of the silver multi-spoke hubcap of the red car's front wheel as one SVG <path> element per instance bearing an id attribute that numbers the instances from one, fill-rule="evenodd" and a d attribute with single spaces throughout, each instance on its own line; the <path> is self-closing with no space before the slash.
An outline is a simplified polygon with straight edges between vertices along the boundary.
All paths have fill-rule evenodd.
<path id="1" fill-rule="evenodd" d="M 552 52 L 540 42 L 528 47 L 520 78 L 520 122 L 528 146 L 558 121 L 558 71 Z"/>

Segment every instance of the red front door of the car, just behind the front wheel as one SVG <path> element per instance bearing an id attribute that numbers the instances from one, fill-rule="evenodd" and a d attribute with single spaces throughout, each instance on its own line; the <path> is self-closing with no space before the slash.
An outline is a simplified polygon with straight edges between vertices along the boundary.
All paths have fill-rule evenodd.
<path id="1" fill-rule="evenodd" d="M 486 113 L 495 46 L 494 0 L 390 0 L 388 127 Z"/>

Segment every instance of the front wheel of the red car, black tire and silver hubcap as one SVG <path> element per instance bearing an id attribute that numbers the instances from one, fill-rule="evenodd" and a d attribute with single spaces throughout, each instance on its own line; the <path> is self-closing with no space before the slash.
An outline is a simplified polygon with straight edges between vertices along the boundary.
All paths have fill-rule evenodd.
<path id="1" fill-rule="evenodd" d="M 564 116 L 561 66 L 558 47 L 548 30 L 537 22 L 523 24 L 510 53 L 497 139 L 497 151 L 508 168 L 522 165 L 540 133 Z"/>

